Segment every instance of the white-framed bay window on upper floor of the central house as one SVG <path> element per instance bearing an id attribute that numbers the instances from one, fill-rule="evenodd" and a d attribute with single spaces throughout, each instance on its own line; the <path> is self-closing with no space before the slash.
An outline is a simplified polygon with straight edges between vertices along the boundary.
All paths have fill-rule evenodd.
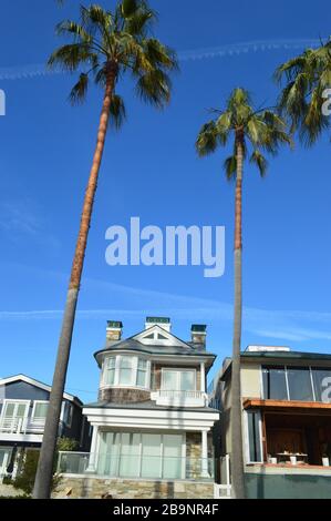
<path id="1" fill-rule="evenodd" d="M 106 374 L 107 374 L 107 364 L 110 358 L 115 358 L 115 375 L 114 375 L 114 384 L 110 385 L 106 382 Z M 120 374 L 121 374 L 121 360 L 122 358 L 131 358 L 132 359 L 132 374 L 131 374 L 131 382 L 127 385 L 120 384 Z M 146 361 L 146 378 L 145 378 L 145 386 L 137 385 L 137 374 L 138 374 L 138 360 Z M 111 357 L 106 357 L 103 361 L 103 370 L 102 370 L 102 388 L 122 388 L 122 389 L 151 389 L 151 360 L 141 355 L 112 355 Z"/>

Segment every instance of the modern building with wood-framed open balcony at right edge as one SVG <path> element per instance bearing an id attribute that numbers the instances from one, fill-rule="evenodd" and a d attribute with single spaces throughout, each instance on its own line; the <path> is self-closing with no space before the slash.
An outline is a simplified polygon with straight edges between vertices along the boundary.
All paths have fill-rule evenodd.
<path id="1" fill-rule="evenodd" d="M 230 395 L 226 359 L 214 385 L 220 457 L 231 456 Z M 241 353 L 241 397 L 247 496 L 331 498 L 331 355 L 250 346 Z"/>

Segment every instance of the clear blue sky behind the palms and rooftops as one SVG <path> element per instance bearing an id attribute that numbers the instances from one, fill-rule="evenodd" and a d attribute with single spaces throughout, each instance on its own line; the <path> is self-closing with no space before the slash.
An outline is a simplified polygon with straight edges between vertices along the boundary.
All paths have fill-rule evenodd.
<path id="1" fill-rule="evenodd" d="M 114 6 L 114 1 L 100 1 Z M 25 372 L 51 381 L 87 180 L 102 92 L 87 103 L 66 102 L 73 78 L 44 74 L 55 45 L 54 25 L 75 18 L 79 1 L 14 0 L 2 6 L 0 89 L 0 376 Z M 123 83 L 128 119 L 108 134 L 91 228 L 75 325 L 68 389 L 95 398 L 92 354 L 105 339 L 106 319 L 122 319 L 125 336 L 149 314 L 170 316 L 184 339 L 193 323 L 208 324 L 208 347 L 220 366 L 231 350 L 234 185 L 225 181 L 225 153 L 196 157 L 194 143 L 207 109 L 221 106 L 235 86 L 258 105 L 272 105 L 275 68 L 304 43 L 330 32 L 329 2 L 300 11 L 279 0 L 152 1 L 157 37 L 175 48 L 182 72 L 170 106 L 157 112 Z M 213 52 L 208 50 L 213 49 Z M 207 51 L 206 51 L 207 50 Z M 189 52 L 187 52 L 189 51 Z M 10 76 L 8 80 L 6 76 Z M 244 335 L 248 344 L 331 350 L 331 147 L 299 144 L 270 159 L 266 180 L 247 166 L 244 196 Z M 226 272 L 207 279 L 200 267 L 110 267 L 105 231 L 142 225 L 226 226 Z"/>

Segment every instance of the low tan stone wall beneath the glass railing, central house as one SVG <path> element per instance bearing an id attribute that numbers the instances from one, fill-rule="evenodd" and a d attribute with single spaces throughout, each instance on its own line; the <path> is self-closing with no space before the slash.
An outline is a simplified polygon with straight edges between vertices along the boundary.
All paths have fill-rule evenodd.
<path id="1" fill-rule="evenodd" d="M 62 477 L 54 499 L 214 499 L 213 482 Z"/>

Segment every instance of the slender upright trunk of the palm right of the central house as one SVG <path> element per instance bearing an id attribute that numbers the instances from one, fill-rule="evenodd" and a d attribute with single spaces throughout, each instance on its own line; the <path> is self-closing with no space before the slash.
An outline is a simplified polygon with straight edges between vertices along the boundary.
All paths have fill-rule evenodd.
<path id="1" fill-rule="evenodd" d="M 241 428 L 241 390 L 240 390 L 240 345 L 242 315 L 241 282 L 241 208 L 242 208 L 242 161 L 244 135 L 237 136 L 237 181 L 236 181 L 236 221 L 235 221 L 235 320 L 231 371 L 231 474 L 236 499 L 245 498 L 242 428 Z"/>

